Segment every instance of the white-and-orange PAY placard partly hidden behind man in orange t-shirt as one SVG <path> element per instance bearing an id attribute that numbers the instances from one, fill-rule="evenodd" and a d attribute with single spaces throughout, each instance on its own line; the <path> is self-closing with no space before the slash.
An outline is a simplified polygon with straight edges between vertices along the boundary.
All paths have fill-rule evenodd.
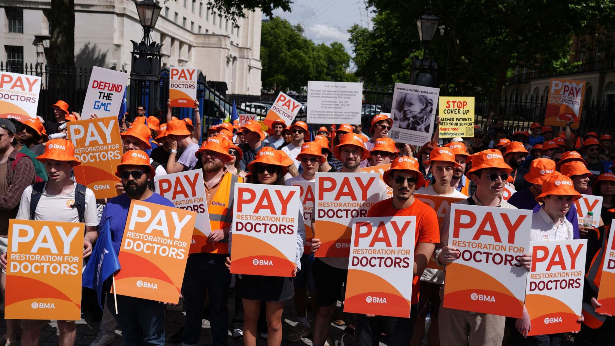
<path id="1" fill-rule="evenodd" d="M 376 173 L 316 174 L 315 257 L 348 257 L 352 218 L 367 216 L 378 202 L 379 179 Z"/>

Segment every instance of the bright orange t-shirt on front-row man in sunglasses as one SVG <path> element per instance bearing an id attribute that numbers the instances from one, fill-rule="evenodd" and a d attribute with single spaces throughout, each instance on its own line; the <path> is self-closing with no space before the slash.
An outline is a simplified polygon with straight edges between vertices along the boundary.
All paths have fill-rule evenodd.
<path id="1" fill-rule="evenodd" d="M 434 209 L 431 209 L 418 198 L 415 198 L 414 203 L 407 208 L 395 209 L 392 199 L 384 199 L 384 201 L 379 201 L 371 206 L 370 210 L 367 211 L 367 217 L 416 216 L 415 247 L 419 241 L 421 243 L 440 243 L 440 226 Z M 419 302 L 419 278 L 421 278 L 421 275 L 416 275 L 412 280 L 411 304 Z"/>

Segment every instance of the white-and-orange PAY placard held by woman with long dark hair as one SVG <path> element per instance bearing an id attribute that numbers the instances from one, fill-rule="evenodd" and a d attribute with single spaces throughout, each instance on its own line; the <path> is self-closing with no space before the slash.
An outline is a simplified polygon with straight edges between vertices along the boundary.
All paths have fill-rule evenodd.
<path id="1" fill-rule="evenodd" d="M 234 193 L 231 273 L 292 276 L 300 188 L 236 183 Z"/>

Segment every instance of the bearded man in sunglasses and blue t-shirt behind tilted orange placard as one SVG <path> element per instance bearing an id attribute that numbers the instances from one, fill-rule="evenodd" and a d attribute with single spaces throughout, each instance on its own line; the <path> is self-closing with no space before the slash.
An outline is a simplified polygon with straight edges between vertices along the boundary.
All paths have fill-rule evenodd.
<path id="1" fill-rule="evenodd" d="M 100 217 L 98 231 L 102 231 L 105 223 L 109 222 L 111 242 L 115 251 L 119 253 L 133 199 L 167 207 L 175 205 L 169 199 L 149 190 L 148 182 L 154 179 L 156 173 L 154 167 L 149 164 L 149 156 L 145 151 L 126 151 L 122 156 L 122 162 L 117 165 L 116 175 L 121 178 L 126 193 L 109 199 Z M 115 313 L 113 299 L 107 299 L 106 305 L 122 329 L 122 340 L 125 345 L 164 344 L 162 324 L 165 303 L 117 294 L 118 313 Z"/>

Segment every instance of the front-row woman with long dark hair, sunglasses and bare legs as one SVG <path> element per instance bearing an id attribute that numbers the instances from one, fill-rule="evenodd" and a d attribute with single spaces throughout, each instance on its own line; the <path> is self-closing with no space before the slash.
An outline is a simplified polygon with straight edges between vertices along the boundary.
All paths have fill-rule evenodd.
<path id="1" fill-rule="evenodd" d="M 248 171 L 252 174 L 252 183 L 264 185 L 286 185 L 284 175 L 288 171 L 283 163 L 280 152 L 265 147 L 258 152 Z M 305 241 L 303 223 L 303 207 L 300 207 L 296 231 L 296 268 L 293 277 L 301 270 L 301 255 Z M 229 254 L 232 255 L 232 226 L 229 231 Z M 226 259 L 226 267 L 231 268 L 231 260 Z M 256 321 L 260 314 L 261 300 L 266 305 L 266 320 L 268 327 L 268 346 L 279 346 L 282 342 L 282 312 L 284 303 L 295 294 L 293 278 L 281 276 L 238 275 L 235 292 L 241 297 L 244 305 L 244 345 L 256 345 Z"/>

